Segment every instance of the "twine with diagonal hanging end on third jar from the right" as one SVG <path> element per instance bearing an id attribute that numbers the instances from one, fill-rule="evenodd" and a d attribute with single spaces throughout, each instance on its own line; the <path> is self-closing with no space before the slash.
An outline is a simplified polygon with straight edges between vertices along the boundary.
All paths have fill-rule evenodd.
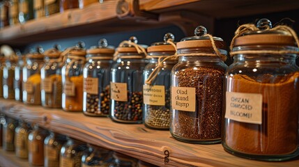
<path id="1" fill-rule="evenodd" d="M 169 43 L 170 45 L 172 45 L 177 52 L 176 44 L 173 42 L 172 39 L 168 39 L 166 42 Z M 161 68 L 163 67 L 164 61 L 167 61 L 168 59 L 177 59 L 178 58 L 176 52 L 172 56 L 149 56 L 149 55 L 146 56 L 146 58 L 158 58 L 158 63 L 157 63 L 157 67 L 155 67 L 153 72 L 151 72 L 151 74 L 146 79 L 145 84 L 151 85 L 151 83 L 158 76 L 158 73 L 160 72 Z"/>

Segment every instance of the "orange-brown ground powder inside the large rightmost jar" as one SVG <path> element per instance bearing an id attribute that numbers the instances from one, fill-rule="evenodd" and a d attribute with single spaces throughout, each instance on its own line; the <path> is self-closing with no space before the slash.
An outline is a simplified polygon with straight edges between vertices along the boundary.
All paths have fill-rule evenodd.
<path id="1" fill-rule="evenodd" d="M 229 77 L 233 85 L 231 92 L 263 95 L 263 125 L 229 120 L 224 138 L 226 144 L 234 150 L 250 154 L 290 154 L 298 149 L 296 97 L 299 89 L 294 91 L 294 87 L 299 86 L 298 78 L 299 72 L 283 77 L 270 74 L 260 78 L 250 78 L 244 74 Z"/>

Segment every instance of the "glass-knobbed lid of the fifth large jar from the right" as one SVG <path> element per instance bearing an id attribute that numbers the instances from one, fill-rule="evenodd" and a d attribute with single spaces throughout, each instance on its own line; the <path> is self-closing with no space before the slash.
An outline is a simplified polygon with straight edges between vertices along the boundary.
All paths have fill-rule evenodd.
<path id="1" fill-rule="evenodd" d="M 86 54 L 114 54 L 114 47 L 109 46 L 105 38 L 98 41 L 98 46 L 92 46 Z"/>

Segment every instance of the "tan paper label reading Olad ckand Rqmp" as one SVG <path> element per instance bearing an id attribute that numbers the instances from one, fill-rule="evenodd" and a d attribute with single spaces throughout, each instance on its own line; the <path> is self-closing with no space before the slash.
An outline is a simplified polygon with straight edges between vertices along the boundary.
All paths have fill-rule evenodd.
<path id="1" fill-rule="evenodd" d="M 171 87 L 172 109 L 195 112 L 195 88 Z"/>

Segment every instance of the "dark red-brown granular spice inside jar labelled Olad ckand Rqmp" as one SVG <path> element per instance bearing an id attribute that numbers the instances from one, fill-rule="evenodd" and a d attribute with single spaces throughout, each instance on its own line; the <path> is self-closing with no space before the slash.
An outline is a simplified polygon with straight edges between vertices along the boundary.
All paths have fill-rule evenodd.
<path id="1" fill-rule="evenodd" d="M 178 86 L 196 88 L 197 112 L 176 110 L 173 134 L 191 139 L 220 138 L 224 70 L 189 67 L 179 71 L 177 77 Z"/>

